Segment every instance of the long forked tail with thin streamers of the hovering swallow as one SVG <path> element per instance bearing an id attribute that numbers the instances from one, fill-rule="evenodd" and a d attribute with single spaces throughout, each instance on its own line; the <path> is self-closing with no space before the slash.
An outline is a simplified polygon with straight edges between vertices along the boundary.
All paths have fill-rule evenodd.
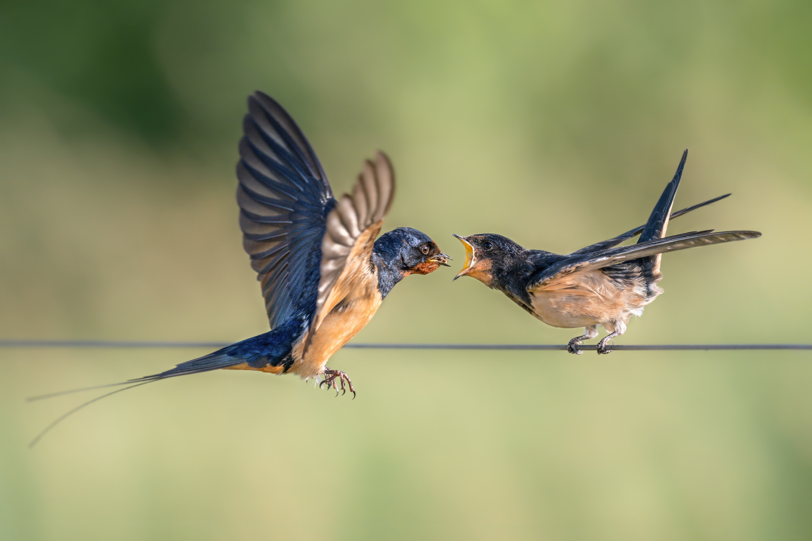
<path id="1" fill-rule="evenodd" d="M 54 420 L 53 423 L 50 423 L 47 427 L 45 427 L 37 437 L 31 440 L 31 443 L 28 444 L 28 449 L 31 449 L 34 445 L 37 444 L 39 440 L 42 439 L 42 436 L 45 436 L 48 432 L 51 431 L 54 427 L 56 427 L 59 423 L 62 423 L 65 419 L 70 417 L 72 414 L 75 414 L 77 411 L 83 409 L 86 406 L 90 406 L 93 402 L 97 402 L 102 400 L 102 398 L 109 397 L 116 393 L 121 393 L 122 391 L 126 391 L 127 389 L 133 389 L 135 387 L 140 387 L 140 385 L 145 385 L 148 383 L 152 383 L 153 381 L 158 380 L 166 380 L 166 378 L 171 378 L 175 376 L 186 376 L 187 374 L 196 374 L 198 372 L 205 372 L 210 370 L 217 370 L 218 368 L 227 368 L 233 367 L 237 364 L 244 363 L 244 359 L 241 359 L 238 356 L 232 355 L 231 353 L 235 353 L 235 345 L 227 346 L 222 348 L 222 350 L 214 351 L 213 353 L 209 353 L 208 355 L 204 355 L 202 357 L 198 357 L 197 359 L 192 359 L 191 361 L 186 361 L 185 363 L 180 363 L 174 368 L 171 368 L 166 371 L 162 371 L 159 374 L 153 374 L 152 376 L 144 376 L 140 378 L 136 378 L 133 380 L 121 381 L 119 383 L 112 383 L 106 385 L 96 385 L 93 387 L 83 387 L 82 389 L 70 389 L 67 391 L 59 391 L 58 393 L 48 393 L 48 394 L 41 394 L 37 397 L 29 397 L 27 401 L 36 401 L 36 400 L 43 400 L 45 398 L 51 397 L 58 397 L 63 394 L 70 394 L 70 393 L 80 393 L 81 391 L 89 391 L 92 389 L 103 389 L 106 387 L 121 387 L 122 385 L 127 385 L 126 387 L 122 387 L 121 389 L 115 389 L 114 391 L 110 391 L 110 393 L 102 394 L 100 397 L 95 397 L 93 400 L 89 400 L 84 402 L 84 404 L 80 404 L 76 406 L 67 413 L 61 415 L 57 419 Z"/>

